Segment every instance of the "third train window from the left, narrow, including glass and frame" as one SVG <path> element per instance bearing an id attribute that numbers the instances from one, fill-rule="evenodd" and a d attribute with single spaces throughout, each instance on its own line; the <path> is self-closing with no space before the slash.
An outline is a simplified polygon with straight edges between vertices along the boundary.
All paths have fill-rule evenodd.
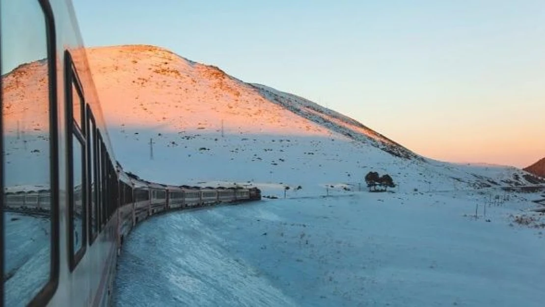
<path id="1" fill-rule="evenodd" d="M 89 221 L 89 233 L 90 238 L 89 242 L 92 244 L 98 233 L 98 222 L 96 218 L 98 216 L 98 207 L 96 206 L 96 133 L 95 133 L 95 122 L 90 108 L 87 109 L 87 155 L 88 165 L 87 172 L 89 173 L 89 182 L 87 183 L 87 190 L 89 191 L 89 212 L 88 212 L 88 221 Z"/>

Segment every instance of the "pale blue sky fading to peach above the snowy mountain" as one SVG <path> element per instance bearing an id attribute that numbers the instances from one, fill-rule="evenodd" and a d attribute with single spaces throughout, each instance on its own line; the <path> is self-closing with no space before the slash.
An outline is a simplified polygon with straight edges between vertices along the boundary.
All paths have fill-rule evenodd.
<path id="1" fill-rule="evenodd" d="M 545 1 L 73 0 L 88 46 L 152 44 L 417 153 L 545 156 Z"/>

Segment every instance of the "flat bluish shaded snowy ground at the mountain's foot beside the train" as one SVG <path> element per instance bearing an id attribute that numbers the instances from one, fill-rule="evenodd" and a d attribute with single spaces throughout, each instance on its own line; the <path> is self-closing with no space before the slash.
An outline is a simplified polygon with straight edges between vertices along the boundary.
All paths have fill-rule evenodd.
<path id="1" fill-rule="evenodd" d="M 543 306 L 545 216 L 521 197 L 346 192 L 178 212 L 134 230 L 117 306 Z M 487 222 L 489 219 L 490 222 Z"/>

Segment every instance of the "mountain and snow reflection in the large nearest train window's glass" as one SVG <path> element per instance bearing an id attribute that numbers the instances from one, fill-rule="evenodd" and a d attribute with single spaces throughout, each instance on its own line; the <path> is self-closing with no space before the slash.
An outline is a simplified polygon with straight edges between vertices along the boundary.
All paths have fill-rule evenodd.
<path id="1" fill-rule="evenodd" d="M 25 306 L 51 277 L 47 34 L 38 1 L 0 6 L 4 305 Z"/>

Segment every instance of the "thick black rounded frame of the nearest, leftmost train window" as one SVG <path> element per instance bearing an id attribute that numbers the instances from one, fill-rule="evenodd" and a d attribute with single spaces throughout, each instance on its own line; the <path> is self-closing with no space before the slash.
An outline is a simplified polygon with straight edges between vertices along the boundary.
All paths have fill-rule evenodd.
<path id="1" fill-rule="evenodd" d="M 51 201 L 51 242 L 50 242 L 50 274 L 49 280 L 41 288 L 41 290 L 30 300 L 28 306 L 43 306 L 46 305 L 54 293 L 57 291 L 59 284 L 59 171 L 58 171 L 58 118 L 57 118 L 57 58 L 56 58 L 56 31 L 53 17 L 53 10 L 48 0 L 38 0 L 38 5 L 44 16 L 45 35 L 46 35 L 46 50 L 47 50 L 47 92 L 49 100 L 49 165 L 50 165 L 50 201 Z M 1 44 L 1 42 L 0 42 Z M 1 47 L 0 47 L 1 50 Z M 1 62 L 1 61 L 0 61 Z M 1 88 L 1 86 L 0 86 Z M 0 89 L 0 106 L 3 105 L 2 91 Z M 1 107 L 0 107 L 0 110 Z M 0 111 L 1 115 L 1 111 Z M 0 128 L 3 128 L 2 116 L 0 116 Z M 3 139 L 3 135 L 0 134 Z M 0 149 L 3 152 L 3 140 L 0 140 Z M 0 165 L 4 164 L 3 155 L 0 155 Z M 4 181 L 3 176 L 0 176 L 0 273 L 4 274 Z M 0 307 L 4 305 L 4 283 L 0 282 Z"/>

